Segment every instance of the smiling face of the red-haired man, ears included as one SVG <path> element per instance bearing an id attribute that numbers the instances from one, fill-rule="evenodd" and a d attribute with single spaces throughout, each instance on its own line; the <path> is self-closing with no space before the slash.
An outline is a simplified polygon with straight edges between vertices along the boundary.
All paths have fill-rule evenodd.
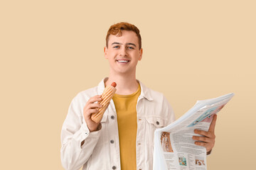
<path id="1" fill-rule="evenodd" d="M 142 60 L 137 35 L 130 30 L 122 30 L 120 37 L 110 35 L 104 52 L 110 62 L 110 71 L 114 74 L 134 74 L 138 61 Z"/>

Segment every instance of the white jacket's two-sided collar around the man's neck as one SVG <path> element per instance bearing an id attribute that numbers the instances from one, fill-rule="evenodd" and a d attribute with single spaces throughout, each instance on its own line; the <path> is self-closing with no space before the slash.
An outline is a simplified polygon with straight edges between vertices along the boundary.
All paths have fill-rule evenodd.
<path id="1" fill-rule="evenodd" d="M 100 81 L 100 83 L 97 86 L 97 93 L 102 94 L 105 89 L 105 82 L 107 81 L 108 77 L 105 77 Z M 141 86 L 142 92 L 139 95 L 139 98 L 146 98 L 149 101 L 153 101 L 153 98 L 151 96 L 151 91 L 149 88 L 147 88 L 144 84 L 142 84 L 141 81 L 137 80 L 139 82 L 139 85 Z"/>

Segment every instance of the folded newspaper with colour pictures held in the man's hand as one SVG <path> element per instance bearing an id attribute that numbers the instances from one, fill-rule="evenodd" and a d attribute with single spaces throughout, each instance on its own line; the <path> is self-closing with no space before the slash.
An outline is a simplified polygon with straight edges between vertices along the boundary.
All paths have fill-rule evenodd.
<path id="1" fill-rule="evenodd" d="M 206 170 L 206 148 L 195 145 L 195 129 L 208 131 L 212 117 L 234 94 L 197 101 L 187 113 L 154 132 L 154 170 Z"/>

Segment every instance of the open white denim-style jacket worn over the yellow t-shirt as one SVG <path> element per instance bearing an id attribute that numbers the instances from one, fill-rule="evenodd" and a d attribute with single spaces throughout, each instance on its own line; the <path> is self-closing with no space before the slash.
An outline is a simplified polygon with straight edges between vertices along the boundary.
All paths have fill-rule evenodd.
<path id="1" fill-rule="evenodd" d="M 61 130 L 60 157 L 69 170 L 121 169 L 117 112 L 110 101 L 101 120 L 102 129 L 90 132 L 83 118 L 85 103 L 92 96 L 102 94 L 105 79 L 98 86 L 81 91 L 70 104 Z M 142 93 L 137 101 L 137 170 L 153 169 L 154 130 L 175 120 L 173 109 L 163 94 L 146 88 L 139 82 Z M 85 143 L 81 147 L 81 142 Z"/>

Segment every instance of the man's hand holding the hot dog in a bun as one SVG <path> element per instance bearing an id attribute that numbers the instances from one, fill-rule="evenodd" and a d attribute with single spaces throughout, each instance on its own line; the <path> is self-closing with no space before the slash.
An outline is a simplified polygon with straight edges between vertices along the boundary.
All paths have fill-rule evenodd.
<path id="1" fill-rule="evenodd" d="M 95 103 L 97 101 L 97 103 Z M 101 95 L 93 96 L 90 98 L 87 103 L 85 104 L 85 107 L 83 109 L 83 115 L 85 118 L 85 122 L 87 124 L 88 129 L 90 132 L 100 130 L 101 126 L 100 123 L 95 123 L 91 119 L 92 113 L 98 113 L 99 108 L 102 108 L 102 105 L 100 105 L 100 101 L 102 101 Z"/>

